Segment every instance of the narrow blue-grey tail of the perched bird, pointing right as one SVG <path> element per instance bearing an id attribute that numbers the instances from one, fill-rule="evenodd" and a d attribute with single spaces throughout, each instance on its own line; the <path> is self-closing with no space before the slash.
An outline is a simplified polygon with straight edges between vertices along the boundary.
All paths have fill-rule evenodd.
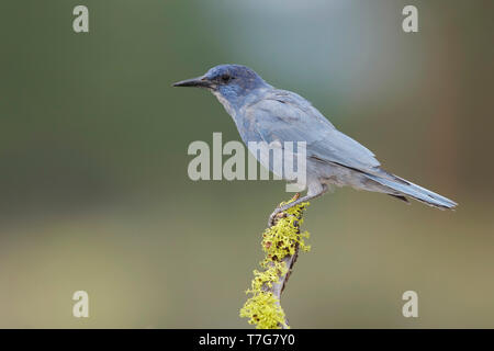
<path id="1" fill-rule="evenodd" d="M 417 184 L 408 182 L 402 178 L 396 176 L 392 176 L 394 179 L 378 177 L 373 174 L 366 174 L 369 179 L 384 185 L 386 188 L 391 188 L 393 192 L 391 195 L 395 196 L 409 196 L 417 201 L 420 201 L 429 206 L 438 207 L 438 208 L 453 208 L 458 204 L 445 196 L 436 194 L 425 188 L 422 188 Z M 391 174 L 390 174 L 391 176 Z M 396 192 L 396 193 L 395 193 Z"/>

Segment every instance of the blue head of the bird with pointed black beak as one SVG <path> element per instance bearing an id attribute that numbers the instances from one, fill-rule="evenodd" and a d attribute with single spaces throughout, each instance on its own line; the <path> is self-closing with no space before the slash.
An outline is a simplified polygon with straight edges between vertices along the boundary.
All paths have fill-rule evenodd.
<path id="1" fill-rule="evenodd" d="M 229 104 L 238 106 L 252 91 L 270 86 L 248 67 L 220 65 L 201 77 L 176 82 L 173 87 L 206 88 L 221 101 L 225 99 Z"/>

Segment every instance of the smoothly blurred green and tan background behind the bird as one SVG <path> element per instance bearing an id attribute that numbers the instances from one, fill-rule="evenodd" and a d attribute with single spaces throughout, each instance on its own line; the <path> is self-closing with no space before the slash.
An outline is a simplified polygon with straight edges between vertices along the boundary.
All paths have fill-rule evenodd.
<path id="1" fill-rule="evenodd" d="M 90 32 L 72 31 L 89 8 Z M 415 4 L 419 32 L 402 31 Z M 492 1 L 3 0 L 0 327 L 242 328 L 280 181 L 187 176 L 239 140 L 173 81 L 244 64 L 307 98 L 456 212 L 339 189 L 313 201 L 282 304 L 295 328 L 494 327 Z M 72 317 L 85 290 L 90 317 Z M 402 316 L 418 293 L 418 318 Z"/>

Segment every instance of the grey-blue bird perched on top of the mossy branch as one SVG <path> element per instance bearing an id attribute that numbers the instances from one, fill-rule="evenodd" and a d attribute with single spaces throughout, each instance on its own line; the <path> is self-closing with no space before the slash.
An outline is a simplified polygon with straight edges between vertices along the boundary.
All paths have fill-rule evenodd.
<path id="1" fill-rule="evenodd" d="M 173 87 L 210 90 L 233 117 L 242 139 L 249 141 L 305 141 L 305 196 L 278 207 L 270 216 L 323 195 L 328 185 L 349 185 L 381 192 L 407 202 L 412 197 L 438 208 L 457 206 L 453 201 L 386 172 L 368 148 L 343 134 L 307 100 L 273 88 L 252 69 L 240 65 L 220 65 L 205 75 L 176 82 Z M 258 161 L 259 155 L 255 154 Z M 272 165 L 269 165 L 272 170 Z M 285 174 L 281 174 L 288 179 Z M 296 182 L 296 180 L 295 180 Z"/>

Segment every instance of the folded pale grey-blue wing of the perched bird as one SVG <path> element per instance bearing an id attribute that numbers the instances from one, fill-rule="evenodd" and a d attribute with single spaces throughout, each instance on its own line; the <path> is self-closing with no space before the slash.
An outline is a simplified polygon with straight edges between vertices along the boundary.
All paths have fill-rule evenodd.
<path id="1" fill-rule="evenodd" d="M 247 106 L 245 116 L 268 144 L 306 141 L 307 158 L 382 176 L 374 154 L 337 131 L 308 101 L 295 93 L 272 91 Z"/>

